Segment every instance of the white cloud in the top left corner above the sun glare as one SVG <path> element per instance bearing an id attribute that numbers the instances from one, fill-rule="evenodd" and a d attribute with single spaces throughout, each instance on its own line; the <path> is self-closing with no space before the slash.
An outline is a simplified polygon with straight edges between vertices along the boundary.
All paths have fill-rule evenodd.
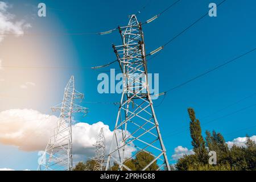
<path id="1" fill-rule="evenodd" d="M 15 15 L 8 12 L 10 7 L 9 4 L 0 1 L 0 42 L 5 37 L 3 34 L 23 35 L 24 29 L 31 27 L 24 20 L 15 21 Z"/>

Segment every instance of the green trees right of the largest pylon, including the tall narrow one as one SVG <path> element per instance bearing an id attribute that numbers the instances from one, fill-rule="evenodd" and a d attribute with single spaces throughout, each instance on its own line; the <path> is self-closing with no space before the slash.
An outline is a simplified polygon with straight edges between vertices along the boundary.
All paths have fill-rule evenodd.
<path id="1" fill-rule="evenodd" d="M 206 131 L 205 140 L 201 135 L 200 122 L 195 111 L 188 109 L 190 133 L 195 154 L 184 155 L 176 163 L 177 170 L 189 171 L 256 171 L 256 143 L 247 137 L 246 146 L 228 148 L 224 137 L 216 131 Z M 217 165 L 208 163 L 209 151 L 216 151 Z M 207 156 L 206 156 L 207 155 Z"/>

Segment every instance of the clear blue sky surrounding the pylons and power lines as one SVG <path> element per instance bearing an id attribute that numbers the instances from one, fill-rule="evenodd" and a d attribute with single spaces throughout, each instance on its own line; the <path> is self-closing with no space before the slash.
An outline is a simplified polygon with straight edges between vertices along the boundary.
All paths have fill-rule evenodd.
<path id="1" fill-rule="evenodd" d="M 35 14 L 32 7 L 42 1 L 5 1 L 13 4 L 13 12 L 17 15 L 30 16 Z M 135 14 L 148 0 L 129 1 L 47 1 L 47 17 L 29 19 L 32 27 L 30 34 L 39 34 L 30 39 L 42 39 L 42 46 L 54 45 L 55 56 L 51 61 L 32 63 L 45 67 L 91 67 L 108 63 L 115 59 L 112 43 L 120 44 L 118 32 L 109 35 L 69 35 L 69 33 L 107 31 L 128 22 L 127 15 Z M 150 19 L 174 1 L 150 1 L 145 9 L 138 14 L 141 22 Z M 181 0 L 170 10 L 162 14 L 152 23 L 143 26 L 147 52 L 162 46 L 169 39 L 179 34 L 196 19 L 207 13 L 210 2 L 220 3 L 220 0 Z M 31 6 L 28 6 L 31 5 Z M 227 0 L 217 9 L 217 17 L 206 16 L 195 26 L 189 28 L 183 35 L 168 44 L 154 59 L 148 61 L 148 72 L 159 73 L 159 90 L 164 92 L 184 81 L 193 78 L 208 69 L 216 67 L 225 61 L 233 59 L 255 48 L 256 24 L 254 19 L 256 2 L 253 0 Z M 53 35 L 42 36 L 44 32 Z M 65 35 L 67 34 L 67 35 Z M 26 36 L 20 41 L 26 42 Z M 37 42 L 40 45 L 40 42 Z M 5 46 L 4 42 L 1 46 Z M 43 55 L 49 49 L 43 49 Z M 1 53 L 1 52 L 0 52 Z M 1 56 L 1 55 L 0 55 Z M 61 59 L 60 59 L 61 57 Z M 168 92 L 162 102 L 162 97 L 154 101 L 160 131 L 168 156 L 174 153 L 174 148 L 183 146 L 191 149 L 189 136 L 189 118 L 187 108 L 193 107 L 196 117 L 202 123 L 202 130 L 216 130 L 222 133 L 226 141 L 237 137 L 255 135 L 256 107 L 231 114 L 247 106 L 256 104 L 255 82 L 256 52 L 238 59 L 208 75 L 190 82 L 180 88 Z M 22 63 L 22 62 L 21 62 Z M 5 63 L 3 65 L 14 65 Z M 17 64 L 17 63 L 16 63 Z M 20 64 L 19 64 L 20 65 Z M 31 65 L 26 63 L 23 65 Z M 102 69 L 118 68 L 117 64 Z M 22 71 L 21 71 L 22 72 Z M 42 113 L 49 113 L 49 107 L 58 104 L 63 97 L 63 89 L 71 75 L 75 76 L 76 88 L 85 93 L 85 101 L 118 102 L 120 94 L 99 94 L 97 92 L 97 75 L 101 70 L 92 69 L 26 69 L 45 76 L 41 85 L 46 89 L 43 96 L 34 97 L 34 102 L 24 105 L 1 106 L 1 111 L 16 108 L 30 108 Z M 246 100 L 243 98 L 251 96 Z M 43 98 L 42 98 L 43 97 Z M 12 102 L 13 103 L 13 102 Z M 113 130 L 118 107 L 110 104 L 88 104 L 90 113 L 81 122 L 104 122 Z M 226 106 L 232 105 L 228 108 Z M 225 109 L 223 109 L 225 108 Z M 223 110 L 222 110 L 223 109 Z M 219 111 L 221 110 L 221 111 Z M 218 111 L 216 113 L 216 111 Z M 231 115 L 228 115 L 231 114 Z M 222 117 L 228 115 L 227 117 Z M 207 123 L 208 124 L 204 124 Z M 254 127 L 251 127 L 254 126 Z M 242 130 L 245 129 L 245 130 Z M 0 145 L 0 168 L 36 169 L 36 152 L 24 152 L 15 147 Z M 12 156 L 6 159 L 11 152 Z"/>

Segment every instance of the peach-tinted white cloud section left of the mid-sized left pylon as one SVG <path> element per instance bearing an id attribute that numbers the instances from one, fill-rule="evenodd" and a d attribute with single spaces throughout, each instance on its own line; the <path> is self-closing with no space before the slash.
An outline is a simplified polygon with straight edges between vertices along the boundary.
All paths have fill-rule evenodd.
<path id="1" fill-rule="evenodd" d="M 31 109 L 11 109 L 0 113 L 0 143 L 20 150 L 44 150 L 57 117 Z"/>

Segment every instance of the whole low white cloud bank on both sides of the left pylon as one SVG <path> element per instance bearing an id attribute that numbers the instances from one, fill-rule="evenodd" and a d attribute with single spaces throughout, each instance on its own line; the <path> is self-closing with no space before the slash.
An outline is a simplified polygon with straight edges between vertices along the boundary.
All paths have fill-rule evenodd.
<path id="1" fill-rule="evenodd" d="M 54 115 L 42 114 L 31 109 L 11 109 L 0 112 L 0 143 L 18 146 L 23 151 L 40 151 L 46 144 L 56 127 L 58 118 Z M 103 122 L 92 125 L 75 123 L 72 126 L 74 159 L 85 159 L 95 155 L 93 144 L 96 143 L 101 128 L 104 128 L 106 155 L 112 142 L 113 131 Z M 121 139 L 120 137 L 118 137 Z M 127 146 L 126 157 L 131 156 L 135 148 Z M 75 160 L 74 160 L 75 161 Z"/>

